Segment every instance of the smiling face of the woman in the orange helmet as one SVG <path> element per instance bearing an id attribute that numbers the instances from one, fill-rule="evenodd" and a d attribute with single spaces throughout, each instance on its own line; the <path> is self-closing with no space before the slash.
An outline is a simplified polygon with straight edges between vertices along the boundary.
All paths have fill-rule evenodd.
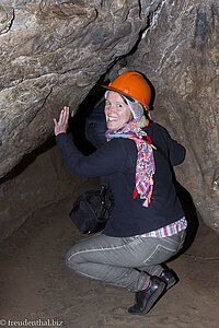
<path id="1" fill-rule="evenodd" d="M 132 119 L 129 106 L 119 93 L 110 91 L 105 101 L 106 125 L 110 130 L 118 130 Z"/>

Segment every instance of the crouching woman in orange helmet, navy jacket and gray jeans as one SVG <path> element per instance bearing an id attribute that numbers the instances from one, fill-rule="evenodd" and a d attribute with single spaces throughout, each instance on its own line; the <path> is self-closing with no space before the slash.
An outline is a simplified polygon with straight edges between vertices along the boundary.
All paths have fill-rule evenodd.
<path id="1" fill-rule="evenodd" d="M 108 176 L 115 202 L 105 229 L 73 245 L 66 261 L 81 277 L 134 292 L 128 313 L 141 315 L 176 283 L 163 265 L 185 238 L 172 177 L 185 149 L 148 118 L 151 90 L 140 73 L 124 72 L 105 87 L 108 142 L 93 154 L 84 156 L 67 137 L 68 107 L 54 119 L 57 145 L 72 173 Z"/>

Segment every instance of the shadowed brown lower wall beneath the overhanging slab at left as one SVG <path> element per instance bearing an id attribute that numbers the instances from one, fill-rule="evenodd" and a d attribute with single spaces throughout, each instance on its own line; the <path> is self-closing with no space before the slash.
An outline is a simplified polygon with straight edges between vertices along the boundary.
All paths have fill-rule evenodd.
<path id="1" fill-rule="evenodd" d="M 0 187 L 0 242 L 10 236 L 37 209 L 76 197 L 88 178 L 72 176 L 60 157 L 54 142 L 26 155 L 24 160 L 2 179 Z M 70 211 L 70 209 L 69 209 Z M 65 220 L 70 220 L 66 218 Z M 64 220 L 64 218 L 60 218 Z"/>

